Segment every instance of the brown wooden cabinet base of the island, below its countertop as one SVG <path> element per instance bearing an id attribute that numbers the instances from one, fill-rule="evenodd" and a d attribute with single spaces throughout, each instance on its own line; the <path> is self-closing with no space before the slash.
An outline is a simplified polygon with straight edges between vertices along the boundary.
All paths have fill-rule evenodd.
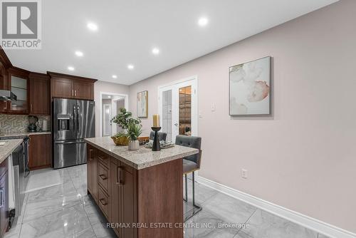
<path id="1" fill-rule="evenodd" d="M 132 227 L 155 222 L 183 224 L 182 159 L 136 170 L 92 145 L 87 146 L 88 192 L 108 222 L 130 224 L 115 227 L 117 237 L 183 237 L 182 227 Z"/>

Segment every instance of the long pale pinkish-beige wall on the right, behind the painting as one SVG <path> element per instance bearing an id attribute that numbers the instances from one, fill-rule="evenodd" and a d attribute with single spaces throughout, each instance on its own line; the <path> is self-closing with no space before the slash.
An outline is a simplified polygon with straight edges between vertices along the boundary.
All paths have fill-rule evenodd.
<path id="1" fill-rule="evenodd" d="M 340 1 L 130 86 L 130 110 L 148 90 L 149 131 L 157 86 L 197 75 L 199 175 L 356 232 L 355 22 L 356 1 Z M 229 66 L 264 56 L 273 115 L 231 118 Z"/>

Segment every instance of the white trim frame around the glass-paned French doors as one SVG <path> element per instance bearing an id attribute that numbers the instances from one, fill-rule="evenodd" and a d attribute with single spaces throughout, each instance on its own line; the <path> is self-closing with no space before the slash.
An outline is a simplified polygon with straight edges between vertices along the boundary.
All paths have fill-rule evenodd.
<path id="1" fill-rule="evenodd" d="M 163 108 L 162 108 L 162 103 L 160 103 L 160 90 L 162 88 L 167 88 L 170 86 L 175 86 L 179 83 L 186 83 L 188 81 L 192 81 L 192 86 L 195 88 L 195 99 L 194 102 L 192 101 L 192 108 L 196 108 L 195 110 L 192 110 L 192 128 L 197 128 L 196 130 L 192 130 L 192 135 L 198 136 L 199 135 L 199 83 L 198 83 L 198 76 L 189 76 L 187 78 L 182 78 L 177 81 L 172 81 L 170 83 L 163 84 L 161 86 L 157 87 L 157 103 L 158 103 L 158 113 L 162 114 Z M 162 125 L 162 116 L 159 117 L 159 123 Z"/>

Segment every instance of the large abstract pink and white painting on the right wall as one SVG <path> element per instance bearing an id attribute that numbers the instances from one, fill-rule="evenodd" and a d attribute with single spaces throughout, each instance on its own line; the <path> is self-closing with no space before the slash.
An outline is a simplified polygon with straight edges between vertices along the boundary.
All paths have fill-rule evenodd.
<path id="1" fill-rule="evenodd" d="M 229 68 L 229 115 L 271 114 L 271 57 Z"/>

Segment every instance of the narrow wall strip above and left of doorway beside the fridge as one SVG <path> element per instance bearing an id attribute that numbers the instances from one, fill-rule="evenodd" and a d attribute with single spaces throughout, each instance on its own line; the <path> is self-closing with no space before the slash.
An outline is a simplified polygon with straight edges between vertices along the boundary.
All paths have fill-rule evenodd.
<path id="1" fill-rule="evenodd" d="M 107 83 L 97 81 L 94 85 L 94 100 L 95 100 L 95 135 L 100 135 L 100 92 L 103 93 L 120 93 L 129 94 L 129 86 L 117 83 Z M 130 98 L 130 97 L 129 97 Z"/>

